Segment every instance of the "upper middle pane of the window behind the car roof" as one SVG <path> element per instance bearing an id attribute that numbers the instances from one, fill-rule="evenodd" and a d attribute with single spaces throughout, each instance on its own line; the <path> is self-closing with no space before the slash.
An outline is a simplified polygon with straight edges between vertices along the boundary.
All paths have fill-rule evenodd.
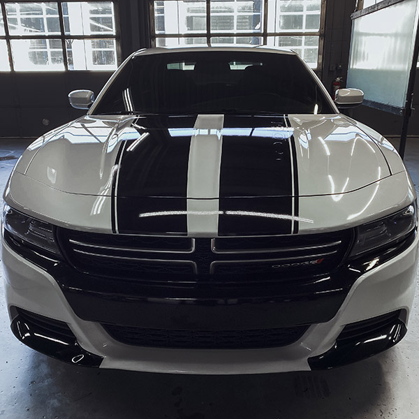
<path id="1" fill-rule="evenodd" d="M 211 31 L 261 32 L 262 15 L 260 0 L 212 0 Z"/>

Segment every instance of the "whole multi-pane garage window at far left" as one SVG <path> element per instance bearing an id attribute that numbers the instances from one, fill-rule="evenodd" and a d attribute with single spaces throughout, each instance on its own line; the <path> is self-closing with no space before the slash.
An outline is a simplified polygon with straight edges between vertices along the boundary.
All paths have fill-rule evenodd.
<path id="1" fill-rule="evenodd" d="M 113 71 L 117 68 L 114 5 L 112 1 L 1 3 L 0 59 L 0 71 Z"/>

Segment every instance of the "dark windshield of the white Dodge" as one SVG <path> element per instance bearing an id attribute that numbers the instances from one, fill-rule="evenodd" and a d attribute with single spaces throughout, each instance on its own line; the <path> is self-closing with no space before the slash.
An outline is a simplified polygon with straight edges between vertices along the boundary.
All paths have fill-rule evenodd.
<path id="1" fill-rule="evenodd" d="M 133 57 L 94 114 L 335 113 L 293 54 L 166 52 Z"/>

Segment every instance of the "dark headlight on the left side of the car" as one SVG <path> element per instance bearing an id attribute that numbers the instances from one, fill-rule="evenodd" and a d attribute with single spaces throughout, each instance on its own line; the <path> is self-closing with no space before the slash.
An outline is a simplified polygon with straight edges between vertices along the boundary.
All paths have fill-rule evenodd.
<path id="1" fill-rule="evenodd" d="M 22 214 L 6 204 L 3 207 L 3 228 L 13 237 L 33 247 L 41 247 L 56 255 L 61 254 L 54 239 L 52 224 Z"/>

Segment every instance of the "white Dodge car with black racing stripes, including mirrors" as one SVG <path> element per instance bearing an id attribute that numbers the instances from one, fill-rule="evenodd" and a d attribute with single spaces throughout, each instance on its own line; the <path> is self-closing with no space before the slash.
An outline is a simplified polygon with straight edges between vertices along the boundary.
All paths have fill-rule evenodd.
<path id="1" fill-rule="evenodd" d="M 76 365 L 326 369 L 406 334 L 416 193 L 294 52 L 141 50 L 4 193 L 13 333 Z M 338 107 L 337 107 L 338 105 Z"/>

